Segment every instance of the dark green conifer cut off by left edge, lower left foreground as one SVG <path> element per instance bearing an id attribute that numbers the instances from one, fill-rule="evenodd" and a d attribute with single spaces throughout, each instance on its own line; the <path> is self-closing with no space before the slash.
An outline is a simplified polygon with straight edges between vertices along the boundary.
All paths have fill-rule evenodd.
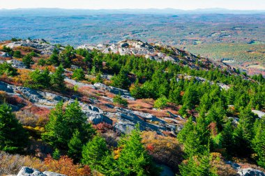
<path id="1" fill-rule="evenodd" d="M 0 105 L 0 150 L 22 152 L 27 147 L 29 136 L 15 118 L 7 104 Z"/>

